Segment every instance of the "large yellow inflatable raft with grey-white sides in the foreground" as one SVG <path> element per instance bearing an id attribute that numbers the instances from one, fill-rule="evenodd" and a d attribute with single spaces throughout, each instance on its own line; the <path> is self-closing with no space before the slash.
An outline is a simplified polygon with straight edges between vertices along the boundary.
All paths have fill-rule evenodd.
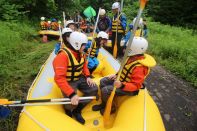
<path id="1" fill-rule="evenodd" d="M 54 52 L 42 66 L 38 76 L 29 89 L 27 99 L 61 98 L 60 89 L 54 83 L 52 61 Z M 103 48 L 99 53 L 100 65 L 95 70 L 95 81 L 99 83 L 102 76 L 116 73 L 120 64 Z M 92 106 L 100 101 L 93 100 L 83 110 L 86 120 L 81 125 L 67 116 L 62 105 L 28 106 L 21 111 L 18 131 L 164 131 L 159 110 L 147 91 L 141 89 L 137 96 L 116 99 L 118 109 L 111 115 L 113 127 L 105 129 L 103 116 L 99 111 L 92 111 Z"/>

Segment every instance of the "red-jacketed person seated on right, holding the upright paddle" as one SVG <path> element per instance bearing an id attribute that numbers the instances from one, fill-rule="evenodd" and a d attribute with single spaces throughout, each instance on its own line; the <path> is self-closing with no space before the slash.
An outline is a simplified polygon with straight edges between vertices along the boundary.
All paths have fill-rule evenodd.
<path id="1" fill-rule="evenodd" d="M 143 87 L 146 76 L 149 74 L 150 67 L 156 64 L 153 57 L 145 54 L 147 48 L 148 42 L 145 38 L 134 37 L 120 79 L 116 80 L 117 75 L 114 74 L 100 80 L 102 103 L 94 105 L 93 111 L 100 110 L 101 114 L 104 113 L 106 102 L 114 86 L 117 88 L 115 96 L 134 96 L 138 94 L 139 89 Z M 114 104 L 112 104 L 111 113 L 113 112 L 115 112 Z"/>

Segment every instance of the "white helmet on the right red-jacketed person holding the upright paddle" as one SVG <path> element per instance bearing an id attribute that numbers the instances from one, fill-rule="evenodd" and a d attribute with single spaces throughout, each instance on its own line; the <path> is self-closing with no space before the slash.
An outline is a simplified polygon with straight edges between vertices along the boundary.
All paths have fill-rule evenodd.
<path id="1" fill-rule="evenodd" d="M 128 43 L 127 43 L 128 44 Z M 128 56 L 143 54 L 148 48 L 148 41 L 143 37 L 134 37 Z"/>

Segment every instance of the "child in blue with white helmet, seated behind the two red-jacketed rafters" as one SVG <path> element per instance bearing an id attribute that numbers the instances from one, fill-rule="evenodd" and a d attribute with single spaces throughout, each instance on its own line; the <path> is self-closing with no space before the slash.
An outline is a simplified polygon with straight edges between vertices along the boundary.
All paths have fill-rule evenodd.
<path id="1" fill-rule="evenodd" d="M 94 43 L 89 41 L 86 44 L 85 52 L 87 52 L 87 55 L 89 55 L 88 58 L 88 69 L 90 71 L 90 74 L 93 73 L 93 71 L 96 69 L 96 67 L 99 65 L 99 61 L 97 59 L 99 49 L 106 45 L 107 40 L 109 39 L 109 36 L 106 32 L 100 31 L 97 35 L 97 37 L 94 39 Z M 93 45 L 91 45 L 93 44 Z"/>

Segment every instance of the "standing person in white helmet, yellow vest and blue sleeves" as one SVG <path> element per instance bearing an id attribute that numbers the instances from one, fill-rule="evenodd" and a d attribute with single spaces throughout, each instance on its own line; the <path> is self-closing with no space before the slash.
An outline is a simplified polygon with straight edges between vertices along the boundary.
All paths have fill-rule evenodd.
<path id="1" fill-rule="evenodd" d="M 122 55 L 122 51 L 120 50 L 120 41 L 125 34 L 125 30 L 127 27 L 127 19 L 126 16 L 120 12 L 120 4 L 119 2 L 115 2 L 112 5 L 112 12 L 114 14 L 112 18 L 112 50 L 111 53 L 113 54 L 115 42 L 117 42 L 117 56 Z M 117 29 L 117 30 L 116 30 Z M 117 36 L 116 36 L 117 32 Z M 117 41 L 116 41 L 117 37 Z"/>

